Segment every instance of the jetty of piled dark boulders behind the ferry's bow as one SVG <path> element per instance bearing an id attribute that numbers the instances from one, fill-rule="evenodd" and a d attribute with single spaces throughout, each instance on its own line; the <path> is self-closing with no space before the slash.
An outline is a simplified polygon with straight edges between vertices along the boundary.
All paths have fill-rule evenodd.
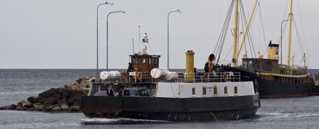
<path id="1" fill-rule="evenodd" d="M 86 76 L 59 88 L 51 88 L 38 96 L 28 97 L 25 101 L 0 107 L 0 110 L 79 112 L 82 95 L 90 91 L 91 82 L 97 79 Z"/>

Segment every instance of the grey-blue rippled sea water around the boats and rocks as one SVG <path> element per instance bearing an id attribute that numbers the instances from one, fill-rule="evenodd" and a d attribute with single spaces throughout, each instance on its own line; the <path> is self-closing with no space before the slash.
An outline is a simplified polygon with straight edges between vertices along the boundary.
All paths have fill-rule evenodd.
<path id="1" fill-rule="evenodd" d="M 125 69 L 110 69 L 123 71 Z M 197 69 L 202 71 L 202 69 Z M 99 69 L 102 72 L 103 69 Z M 184 71 L 184 69 L 170 69 Z M 318 69 L 312 70 L 319 74 Z M 96 69 L 0 69 L 0 107 L 17 104 L 30 96 L 72 84 Z M 135 119 L 86 118 L 83 113 L 0 111 L 0 129 L 318 129 L 319 96 L 260 99 L 257 114 L 246 120 L 227 122 L 166 122 Z"/>

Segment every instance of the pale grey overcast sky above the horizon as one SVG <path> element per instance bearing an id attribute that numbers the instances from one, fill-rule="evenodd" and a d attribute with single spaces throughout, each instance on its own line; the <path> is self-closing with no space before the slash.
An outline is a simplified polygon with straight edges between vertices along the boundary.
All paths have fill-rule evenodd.
<path id="1" fill-rule="evenodd" d="M 169 68 L 185 68 L 185 52 L 193 50 L 194 66 L 203 68 L 214 52 L 230 0 L 0 0 L 0 68 L 127 68 L 129 55 L 137 51 L 139 40 L 148 33 L 148 50 L 161 55 L 160 67 L 167 67 L 167 15 L 169 14 Z M 243 0 L 249 16 L 255 0 Z M 268 43 L 280 42 L 281 23 L 288 17 L 290 0 L 259 0 L 251 32 L 255 53 L 267 58 Z M 319 0 L 294 0 L 293 15 L 308 68 L 319 68 Z M 126 13 L 112 13 L 124 10 Z M 233 9 L 234 10 L 234 9 Z M 233 12 L 232 12 L 233 15 Z M 261 18 L 260 18 L 261 17 Z M 260 20 L 262 19 L 262 20 Z M 141 37 L 139 37 L 139 26 Z M 234 27 L 231 17 L 222 60 L 231 60 Z M 262 29 L 263 28 L 263 29 Z M 244 31 L 240 28 L 240 31 Z M 288 32 L 288 29 L 286 30 Z M 291 56 L 294 65 L 303 58 L 292 29 Z M 241 36 L 242 37 L 242 36 Z M 240 41 L 242 38 L 240 38 Z M 288 33 L 283 38 L 283 64 L 287 62 Z M 247 48 L 248 49 L 248 48 Z M 245 50 L 240 53 L 240 58 Z M 247 50 L 251 58 L 250 50 Z M 256 54 L 257 55 L 257 54 Z M 303 63 L 302 63 L 303 65 Z"/>

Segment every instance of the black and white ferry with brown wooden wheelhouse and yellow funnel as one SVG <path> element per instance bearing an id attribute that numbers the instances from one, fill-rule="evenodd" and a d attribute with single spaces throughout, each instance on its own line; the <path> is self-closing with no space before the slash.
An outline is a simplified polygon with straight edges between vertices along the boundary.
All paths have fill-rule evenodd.
<path id="1" fill-rule="evenodd" d="M 148 41 L 146 37 L 143 41 Z M 195 73 L 193 51 L 185 53 L 185 72 L 170 72 L 159 68 L 160 56 L 147 54 L 146 48 L 130 55 L 134 72 L 101 72 L 102 79 L 91 83 L 89 94 L 82 96 L 81 110 L 86 117 L 228 121 L 252 118 L 260 108 L 257 89 L 252 81 L 241 81 L 240 73 Z M 97 95 L 110 86 L 116 88 L 117 95 Z M 130 96 L 122 94 L 124 87 L 128 87 Z"/>

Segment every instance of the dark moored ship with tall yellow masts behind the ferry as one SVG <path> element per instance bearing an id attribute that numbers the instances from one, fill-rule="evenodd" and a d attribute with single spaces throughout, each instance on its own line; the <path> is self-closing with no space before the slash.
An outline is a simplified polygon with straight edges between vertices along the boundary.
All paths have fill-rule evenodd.
<path id="1" fill-rule="evenodd" d="M 240 1 L 240 0 L 239 0 Z M 249 31 L 249 24 L 252 19 L 254 9 L 257 1 L 251 12 L 251 17 L 248 21 L 244 38 Z M 303 59 L 299 65 L 294 65 L 294 56 L 290 56 L 291 44 L 291 26 L 292 26 L 292 3 L 289 13 L 289 41 L 288 41 L 288 60 L 287 65 L 279 63 L 279 44 L 268 44 L 268 57 L 263 59 L 263 55 L 259 52 L 258 57 L 248 58 L 247 54 L 243 54 L 242 64 L 238 63 L 240 50 L 243 46 L 244 39 L 238 48 L 239 31 L 237 18 L 238 14 L 238 0 L 235 0 L 235 26 L 233 31 L 234 45 L 232 63 L 224 65 L 225 71 L 241 72 L 243 81 L 254 81 L 255 87 L 258 86 L 260 97 L 298 97 L 309 96 L 315 85 L 314 75 L 307 73 L 306 55 L 302 55 Z M 288 20 L 285 20 L 288 21 Z M 282 40 L 282 38 L 281 38 Z M 282 49 L 281 49 L 282 50 Z M 295 55 L 295 54 L 294 54 Z M 282 55 L 281 55 L 282 57 Z M 281 59 L 282 61 L 282 59 Z M 217 61 L 218 62 L 218 61 Z M 301 65 L 303 64 L 303 65 Z"/>

